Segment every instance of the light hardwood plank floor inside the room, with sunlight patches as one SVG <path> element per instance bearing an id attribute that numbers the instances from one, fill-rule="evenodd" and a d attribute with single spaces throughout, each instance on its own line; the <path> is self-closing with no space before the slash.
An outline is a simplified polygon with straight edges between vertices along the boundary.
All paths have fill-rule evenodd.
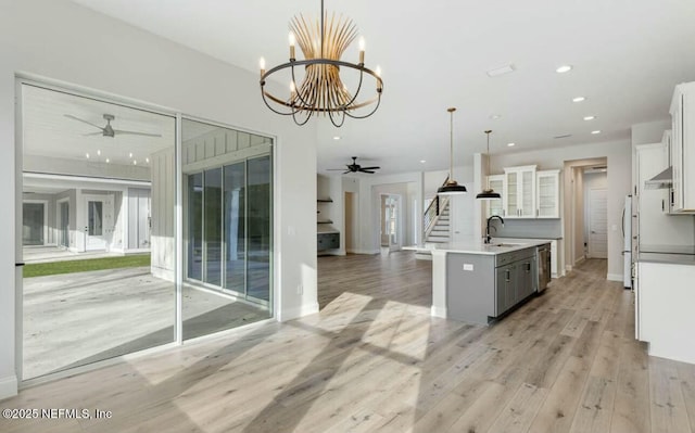
<path id="1" fill-rule="evenodd" d="M 695 432 L 695 366 L 634 341 L 633 296 L 587 260 L 485 328 L 431 318 L 431 263 L 319 258 L 320 314 L 24 390 L 16 432 Z M 683 342 L 690 344 L 690 342 Z"/>

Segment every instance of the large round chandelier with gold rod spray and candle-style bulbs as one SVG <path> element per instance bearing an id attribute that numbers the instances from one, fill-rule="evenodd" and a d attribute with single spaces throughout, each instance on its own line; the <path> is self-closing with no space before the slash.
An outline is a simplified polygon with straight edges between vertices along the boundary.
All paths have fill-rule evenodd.
<path id="1" fill-rule="evenodd" d="M 364 39 L 359 39 L 359 63 L 340 60 L 356 37 L 357 28 L 352 20 L 343 18 L 342 15 L 336 17 L 334 13 L 329 18 L 324 11 L 324 0 L 320 20 L 312 22 L 302 14 L 294 16 L 290 22 L 290 61 L 266 72 L 265 60 L 261 59 L 263 102 L 277 114 L 292 116 L 300 126 L 305 125 L 315 113 L 328 116 L 336 127 L 343 125 L 345 116 L 371 116 L 381 103 L 383 80 L 379 66 L 376 71 L 365 67 Z M 304 60 L 295 59 L 296 43 L 304 53 Z M 348 89 L 345 76 L 341 77 L 341 68 L 342 72 L 354 72 L 350 81 L 355 85 L 354 93 Z M 290 82 L 289 94 L 283 97 L 274 94 L 266 87 L 266 80 L 280 72 L 286 74 L 285 79 Z M 277 75 L 274 78 L 278 78 Z M 358 99 L 364 81 L 371 79 L 375 81 L 376 93 L 369 99 Z M 369 107 L 370 105 L 374 107 Z"/>

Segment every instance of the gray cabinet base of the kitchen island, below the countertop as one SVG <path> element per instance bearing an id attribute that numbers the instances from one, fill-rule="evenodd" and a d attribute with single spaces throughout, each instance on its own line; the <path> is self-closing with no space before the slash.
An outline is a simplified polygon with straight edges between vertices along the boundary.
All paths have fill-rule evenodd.
<path id="1" fill-rule="evenodd" d="M 538 290 L 536 247 L 498 254 L 446 254 L 451 319 L 488 324 Z"/>

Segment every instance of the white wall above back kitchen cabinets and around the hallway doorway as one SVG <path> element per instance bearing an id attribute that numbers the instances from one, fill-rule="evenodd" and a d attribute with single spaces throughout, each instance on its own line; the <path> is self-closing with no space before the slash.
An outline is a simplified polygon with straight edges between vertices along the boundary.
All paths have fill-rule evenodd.
<path id="1" fill-rule="evenodd" d="M 552 150 L 494 155 L 492 173 L 503 167 L 536 164 L 539 169 L 564 169 L 565 161 L 606 157 L 608 161 L 608 278 L 622 279 L 622 234 L 620 224 L 624 195 L 630 192 L 632 176 L 630 141 L 578 144 Z M 567 229 L 567 226 L 565 226 Z M 566 234 L 567 237 L 567 234 Z M 567 240 L 566 240 L 567 241 Z M 570 256 L 566 244 L 566 256 Z"/>

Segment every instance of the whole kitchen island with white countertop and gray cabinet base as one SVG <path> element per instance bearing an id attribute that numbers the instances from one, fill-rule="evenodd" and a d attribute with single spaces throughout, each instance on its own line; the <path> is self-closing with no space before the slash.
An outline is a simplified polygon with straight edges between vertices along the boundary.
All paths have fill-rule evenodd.
<path id="1" fill-rule="evenodd" d="M 432 316 L 488 324 L 536 293 L 538 247 L 482 240 L 410 246 L 432 254 Z"/>

